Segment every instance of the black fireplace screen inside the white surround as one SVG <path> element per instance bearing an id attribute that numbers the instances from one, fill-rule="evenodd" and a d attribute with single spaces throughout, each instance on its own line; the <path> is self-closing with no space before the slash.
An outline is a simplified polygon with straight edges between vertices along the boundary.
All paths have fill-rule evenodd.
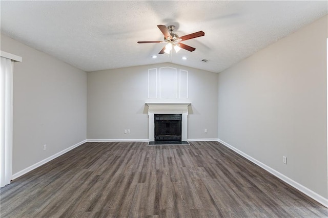
<path id="1" fill-rule="evenodd" d="M 155 141 L 181 141 L 182 114 L 155 114 Z"/>

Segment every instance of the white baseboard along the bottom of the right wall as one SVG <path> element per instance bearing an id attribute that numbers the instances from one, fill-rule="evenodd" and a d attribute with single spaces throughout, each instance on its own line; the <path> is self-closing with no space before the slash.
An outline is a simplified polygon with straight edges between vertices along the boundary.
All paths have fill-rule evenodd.
<path id="1" fill-rule="evenodd" d="M 298 189 L 299 191 L 303 192 L 304 194 L 308 195 L 310 198 L 312 198 L 313 200 L 319 202 L 320 204 L 322 204 L 325 207 L 328 207 L 328 199 L 325 199 L 324 197 L 322 197 L 320 194 L 312 191 L 309 188 L 306 188 L 305 186 L 299 184 L 298 182 L 290 179 L 289 177 L 286 177 L 285 175 L 283 175 L 282 173 L 278 172 L 277 170 L 263 164 L 262 162 L 252 158 L 251 156 L 245 154 L 244 152 L 242 152 L 241 150 L 233 147 L 232 145 L 228 144 L 227 142 L 224 142 L 220 139 L 218 139 L 218 142 L 222 143 L 224 146 L 229 147 L 230 149 L 232 149 L 233 151 L 237 152 L 239 155 L 241 155 L 242 157 L 252 161 L 253 163 L 255 163 L 256 165 L 258 165 L 259 167 L 267 170 L 268 172 L 270 172 L 272 175 L 278 177 L 279 179 L 281 179 L 282 181 L 284 181 L 285 183 L 288 183 L 289 185 L 293 186 L 294 188 Z"/>

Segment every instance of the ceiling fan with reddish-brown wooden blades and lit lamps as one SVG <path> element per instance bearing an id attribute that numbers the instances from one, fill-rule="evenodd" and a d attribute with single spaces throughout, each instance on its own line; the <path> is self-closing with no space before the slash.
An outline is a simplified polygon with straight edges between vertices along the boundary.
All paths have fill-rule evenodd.
<path id="1" fill-rule="evenodd" d="M 195 48 L 193 48 L 191 46 L 187 46 L 186 44 L 183 44 L 180 41 L 185 41 L 188 39 L 197 38 L 197 37 L 205 35 L 205 33 L 203 31 L 198 31 L 195 33 L 191 33 L 191 34 L 179 37 L 177 34 L 172 33 L 172 31 L 174 30 L 174 27 L 175 27 L 173 25 L 168 26 L 168 27 L 166 27 L 165 25 L 157 25 L 157 27 L 163 33 L 164 41 L 138 41 L 138 43 L 167 42 L 167 45 L 164 48 L 162 48 L 162 50 L 160 50 L 160 52 L 158 54 L 164 54 L 164 53 L 170 54 L 170 51 L 172 50 L 172 48 L 174 48 L 175 52 L 178 52 L 181 48 L 186 49 L 190 52 L 195 51 L 196 50 Z"/>

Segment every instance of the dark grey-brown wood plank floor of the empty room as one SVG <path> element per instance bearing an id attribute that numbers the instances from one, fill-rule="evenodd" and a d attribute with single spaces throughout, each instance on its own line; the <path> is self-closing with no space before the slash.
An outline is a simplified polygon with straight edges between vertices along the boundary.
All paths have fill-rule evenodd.
<path id="1" fill-rule="evenodd" d="M 85 143 L 1 188 L 1 217 L 327 217 L 218 142 Z"/>

